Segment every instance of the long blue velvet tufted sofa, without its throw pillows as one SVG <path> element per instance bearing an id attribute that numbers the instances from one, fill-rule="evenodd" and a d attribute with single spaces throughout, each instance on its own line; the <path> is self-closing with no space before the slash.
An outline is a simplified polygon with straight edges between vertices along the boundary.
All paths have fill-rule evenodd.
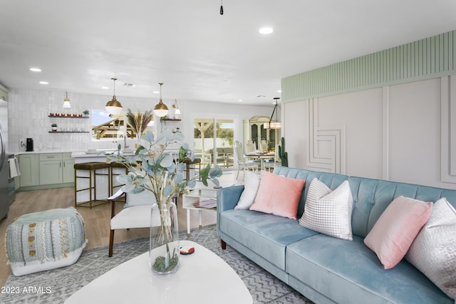
<path id="1" fill-rule="evenodd" d="M 330 189 L 348 179 L 353 194 L 353 241 L 319 234 L 293 219 L 234 210 L 244 190 L 244 186 L 234 186 L 220 189 L 217 195 L 217 235 L 222 247 L 229 244 L 316 303 L 456 303 L 405 259 L 383 269 L 363 243 L 395 197 L 422 201 L 446 197 L 456 207 L 456 190 L 289 167 L 276 167 L 274 174 L 306 179 L 298 219 L 314 177 Z"/>

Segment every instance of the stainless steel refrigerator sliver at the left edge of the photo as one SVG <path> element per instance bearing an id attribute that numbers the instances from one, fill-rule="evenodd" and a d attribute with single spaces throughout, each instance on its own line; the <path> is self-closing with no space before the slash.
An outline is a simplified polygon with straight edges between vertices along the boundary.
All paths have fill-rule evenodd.
<path id="1" fill-rule="evenodd" d="M 8 162 L 8 104 L 0 100 L 0 220 L 8 216 L 9 162 Z"/>

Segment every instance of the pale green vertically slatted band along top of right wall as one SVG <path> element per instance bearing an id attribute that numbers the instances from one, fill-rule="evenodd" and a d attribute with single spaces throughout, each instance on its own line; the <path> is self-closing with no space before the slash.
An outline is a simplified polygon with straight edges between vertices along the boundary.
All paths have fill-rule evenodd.
<path id="1" fill-rule="evenodd" d="M 297 101 L 455 73 L 456 31 L 450 31 L 284 78 L 282 100 Z"/>

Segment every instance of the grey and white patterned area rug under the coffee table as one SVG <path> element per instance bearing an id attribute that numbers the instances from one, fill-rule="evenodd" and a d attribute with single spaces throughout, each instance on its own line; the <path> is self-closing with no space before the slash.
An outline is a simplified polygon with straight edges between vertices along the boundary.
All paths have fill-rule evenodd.
<path id="1" fill-rule="evenodd" d="M 187 239 L 187 231 L 180 233 L 180 239 Z M 223 258 L 242 278 L 252 295 L 253 303 L 312 303 L 230 246 L 222 250 L 215 225 L 192 229 L 189 240 Z M 120 263 L 145 253 L 148 248 L 148 238 L 134 239 L 115 243 L 111 258 L 108 258 L 108 246 L 101 246 L 83 251 L 78 262 L 71 266 L 26 276 L 10 275 L 2 287 L 0 303 L 63 303 L 93 279 Z M 216 299 L 214 303 L 217 303 Z"/>

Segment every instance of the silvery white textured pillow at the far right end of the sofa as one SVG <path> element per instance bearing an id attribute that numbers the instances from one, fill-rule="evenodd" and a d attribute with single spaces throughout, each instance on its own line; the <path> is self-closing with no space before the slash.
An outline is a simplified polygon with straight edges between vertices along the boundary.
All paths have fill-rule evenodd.
<path id="1" fill-rule="evenodd" d="M 450 298 L 456 297 L 456 210 L 439 199 L 405 259 Z"/>

